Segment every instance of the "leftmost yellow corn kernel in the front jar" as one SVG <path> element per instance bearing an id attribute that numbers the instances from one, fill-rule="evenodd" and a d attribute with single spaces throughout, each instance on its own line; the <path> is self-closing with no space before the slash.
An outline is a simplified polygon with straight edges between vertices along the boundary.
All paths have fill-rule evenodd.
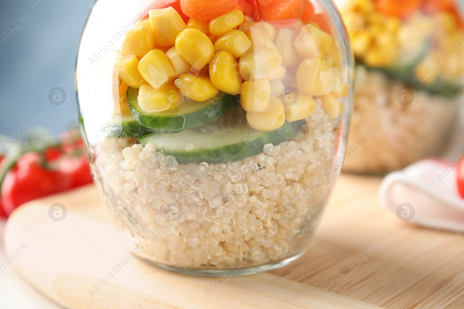
<path id="1" fill-rule="evenodd" d="M 145 83 L 137 67 L 139 59 L 124 51 L 118 51 L 115 60 L 115 70 L 119 73 L 119 78 L 130 87 L 139 88 Z"/>

